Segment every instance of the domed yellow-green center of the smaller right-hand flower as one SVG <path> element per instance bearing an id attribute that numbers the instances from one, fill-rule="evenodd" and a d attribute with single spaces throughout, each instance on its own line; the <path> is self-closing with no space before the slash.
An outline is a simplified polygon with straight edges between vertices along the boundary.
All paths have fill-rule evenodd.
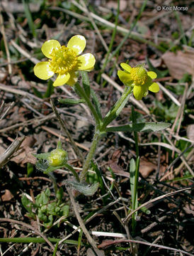
<path id="1" fill-rule="evenodd" d="M 143 67 L 132 68 L 130 76 L 134 80 L 135 85 L 141 86 L 147 80 L 147 71 Z"/>

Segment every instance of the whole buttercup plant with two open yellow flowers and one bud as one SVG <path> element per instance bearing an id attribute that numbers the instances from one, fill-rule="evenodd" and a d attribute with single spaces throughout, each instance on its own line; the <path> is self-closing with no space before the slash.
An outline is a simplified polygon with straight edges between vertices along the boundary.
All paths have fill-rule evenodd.
<path id="1" fill-rule="evenodd" d="M 156 78 L 156 73 L 152 71 L 147 71 L 142 65 L 135 68 L 131 68 L 127 63 L 121 63 L 123 70 L 118 70 L 118 77 L 121 82 L 125 85 L 124 92 L 120 96 L 118 102 L 113 105 L 111 110 L 102 117 L 101 105 L 98 102 L 98 97 L 96 93 L 92 90 L 89 82 L 89 78 L 86 71 L 93 69 L 95 64 L 95 58 L 91 53 L 86 53 L 80 55 L 86 46 L 86 39 L 84 36 L 73 36 L 67 47 L 61 46 L 58 41 L 49 40 L 43 43 L 42 53 L 45 54 L 47 58 L 50 58 L 47 62 L 38 63 L 35 65 L 34 73 L 38 78 L 47 80 L 51 78 L 55 73 L 57 74 L 57 79 L 54 82 L 54 86 L 60 85 L 71 85 L 76 94 L 80 97 L 80 100 L 70 99 L 71 103 L 79 104 L 84 102 L 88 105 L 93 114 L 95 120 L 95 132 L 93 134 L 93 140 L 91 142 L 91 148 L 86 156 L 83 163 L 83 169 L 81 174 L 78 176 L 76 171 L 74 171 L 73 166 L 67 164 L 67 152 L 64 153 L 61 144 L 57 146 L 57 149 L 50 153 L 43 153 L 35 155 L 39 161 L 37 164 L 38 169 L 45 171 L 46 174 L 50 174 L 57 168 L 66 168 L 72 171 L 76 180 L 67 181 L 73 188 L 77 191 L 84 193 L 85 196 L 91 196 L 98 189 L 98 183 L 88 184 L 86 183 L 86 175 L 88 174 L 89 168 L 91 166 L 91 160 L 95 156 L 96 148 L 100 139 L 105 136 L 108 132 L 135 132 L 136 133 L 136 149 L 137 145 L 137 132 L 143 131 L 159 131 L 170 126 L 168 123 L 136 123 L 133 118 L 132 123 L 125 124 L 117 127 L 111 127 L 109 124 L 120 114 L 123 107 L 125 107 L 129 97 L 135 96 L 137 100 L 142 100 L 148 93 L 158 92 L 159 85 L 153 80 Z M 80 55 L 80 56 L 79 56 Z M 78 80 L 78 75 L 76 72 L 81 73 L 82 82 L 81 85 Z M 68 99 L 69 100 L 69 99 Z M 69 102 L 69 101 L 68 101 Z M 137 154 L 138 156 L 138 154 Z M 45 161 L 46 160 L 46 164 Z M 133 164 L 134 166 L 134 164 Z M 134 169 L 132 167 L 131 169 Z M 137 207 L 137 181 L 139 174 L 139 159 L 136 161 L 135 168 L 135 195 L 132 196 L 133 209 Z M 132 174 L 131 174 L 132 175 Z"/>

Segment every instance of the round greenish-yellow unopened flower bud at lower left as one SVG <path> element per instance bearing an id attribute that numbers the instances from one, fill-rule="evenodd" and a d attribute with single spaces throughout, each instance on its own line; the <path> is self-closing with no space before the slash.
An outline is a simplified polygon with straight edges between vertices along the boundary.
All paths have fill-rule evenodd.
<path id="1" fill-rule="evenodd" d="M 50 152 L 47 161 L 50 166 L 62 166 L 67 162 L 67 151 L 63 149 L 54 149 Z"/>

